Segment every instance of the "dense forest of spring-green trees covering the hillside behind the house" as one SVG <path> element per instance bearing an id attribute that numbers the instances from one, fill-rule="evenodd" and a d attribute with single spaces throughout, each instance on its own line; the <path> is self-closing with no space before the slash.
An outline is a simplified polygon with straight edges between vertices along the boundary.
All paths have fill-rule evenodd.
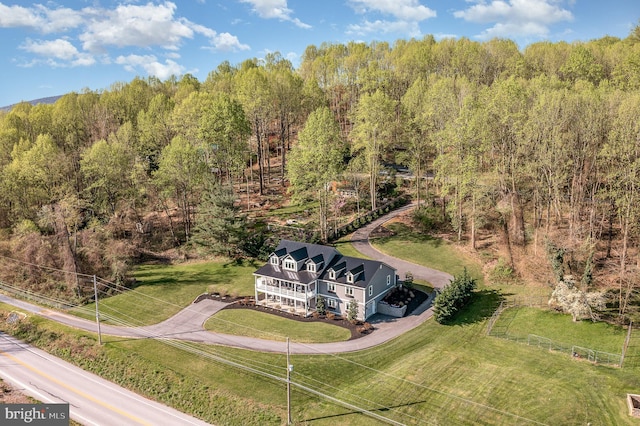
<path id="1" fill-rule="evenodd" d="M 239 238 L 250 224 L 229 192 L 255 179 L 268 195 L 273 175 L 319 202 L 326 235 L 327 181 L 366 174 L 374 208 L 385 163 L 434 176 L 413 194 L 442 200 L 458 240 L 475 248 L 491 230 L 507 253 L 569 256 L 564 272 L 616 289 L 624 314 L 640 286 L 640 29 L 522 50 L 432 36 L 322 44 L 297 69 L 273 53 L 205 81 L 136 78 L 18 104 L 0 113 L 0 255 L 117 280 L 171 247 L 234 255 L 259 242 Z M 597 283 L 604 265 L 615 274 Z"/>

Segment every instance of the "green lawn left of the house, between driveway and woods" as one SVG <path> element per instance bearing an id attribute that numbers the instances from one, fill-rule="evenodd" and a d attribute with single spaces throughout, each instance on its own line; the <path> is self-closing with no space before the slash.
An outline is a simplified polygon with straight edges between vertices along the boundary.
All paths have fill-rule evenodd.
<path id="1" fill-rule="evenodd" d="M 198 262 L 179 265 L 142 265 L 134 271 L 132 290 L 100 300 L 100 311 L 127 323 L 161 322 L 188 306 L 200 294 L 218 291 L 229 295 L 254 294 L 253 272 L 261 263 Z M 93 305 L 75 313 L 90 316 Z"/>

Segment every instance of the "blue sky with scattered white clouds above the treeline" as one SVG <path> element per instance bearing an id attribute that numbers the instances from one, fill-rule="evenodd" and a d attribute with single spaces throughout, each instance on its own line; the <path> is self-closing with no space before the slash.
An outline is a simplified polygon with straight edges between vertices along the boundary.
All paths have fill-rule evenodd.
<path id="1" fill-rule="evenodd" d="M 626 37 L 640 0 L 0 0 L 0 106 L 322 42 Z"/>

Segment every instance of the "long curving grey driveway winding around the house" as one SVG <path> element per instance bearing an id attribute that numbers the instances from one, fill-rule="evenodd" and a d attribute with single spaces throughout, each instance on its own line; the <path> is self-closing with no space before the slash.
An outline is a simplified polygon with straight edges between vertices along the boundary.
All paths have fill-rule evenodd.
<path id="1" fill-rule="evenodd" d="M 404 274 L 407 271 L 411 271 L 415 278 L 426 280 L 436 288 L 442 288 L 453 279 L 451 275 L 387 256 L 373 248 L 369 243 L 369 235 L 375 228 L 413 207 L 415 207 L 415 204 L 409 204 L 380 217 L 363 228 L 360 228 L 351 237 L 351 242 L 354 247 L 365 256 L 394 267 L 400 277 L 404 277 Z M 294 354 L 332 354 L 372 348 L 406 333 L 430 318 L 433 315 L 430 308 L 432 298 L 433 294 L 429 296 L 429 299 L 420 305 L 415 311 L 403 318 L 393 318 L 381 314 L 374 315 L 369 322 L 373 324 L 375 331 L 358 339 L 333 343 L 297 343 L 292 341 L 290 343 L 290 351 Z M 29 312 L 71 327 L 97 333 L 97 326 L 93 321 L 67 315 L 62 312 L 44 309 L 37 305 L 32 305 L 4 295 L 0 295 L 0 302 L 17 306 L 21 309 L 25 309 Z M 205 321 L 226 305 L 227 304 L 223 302 L 205 299 L 201 302 L 187 306 L 173 317 L 158 324 L 144 327 L 119 327 L 101 324 L 100 329 L 104 334 L 124 338 L 184 340 L 232 346 L 262 352 L 284 353 L 287 351 L 285 342 L 206 331 L 203 327 Z"/>

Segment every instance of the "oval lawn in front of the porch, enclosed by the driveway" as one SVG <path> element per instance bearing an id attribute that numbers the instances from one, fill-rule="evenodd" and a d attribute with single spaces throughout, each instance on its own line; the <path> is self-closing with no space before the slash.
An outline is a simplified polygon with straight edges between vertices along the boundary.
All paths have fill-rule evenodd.
<path id="1" fill-rule="evenodd" d="M 207 320 L 209 331 L 261 339 L 325 343 L 349 340 L 346 328 L 326 323 L 301 322 L 249 309 L 225 309 Z"/>

